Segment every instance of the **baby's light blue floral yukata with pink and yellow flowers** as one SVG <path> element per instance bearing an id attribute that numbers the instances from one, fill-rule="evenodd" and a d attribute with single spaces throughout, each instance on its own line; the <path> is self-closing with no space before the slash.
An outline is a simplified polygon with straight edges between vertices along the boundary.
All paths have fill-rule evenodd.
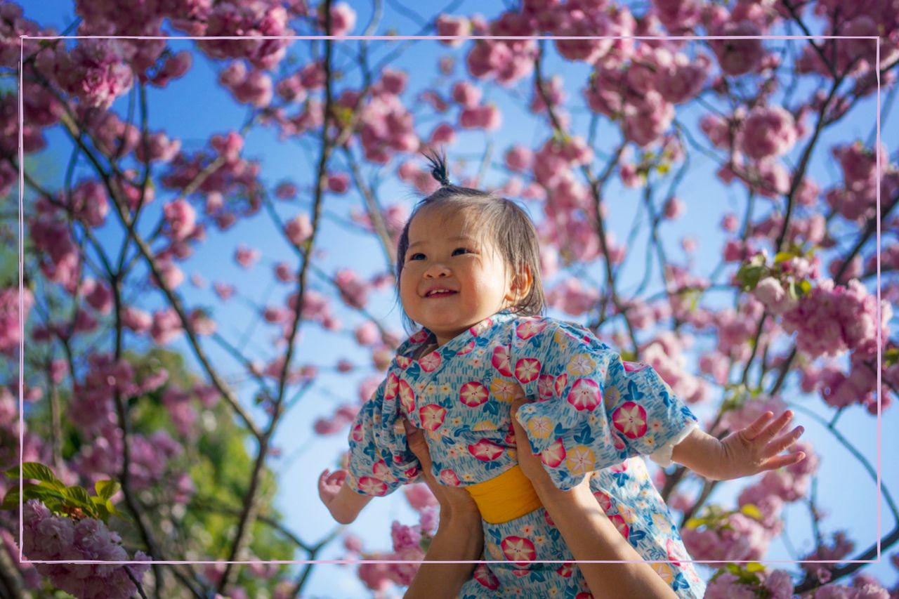
<path id="1" fill-rule="evenodd" d="M 588 329 L 509 310 L 468 329 L 431 353 L 413 356 L 432 334 L 402 344 L 387 378 L 360 410 L 350 432 L 349 476 L 357 493 L 385 496 L 419 482 L 402 416 L 424 430 L 441 484 L 470 486 L 517 465 L 510 407 L 557 487 L 590 478 L 619 532 L 681 597 L 705 584 L 684 549 L 672 514 L 640 455 L 670 463 L 672 447 L 696 416 L 649 366 L 622 362 Z M 542 507 L 505 523 L 483 522 L 485 560 L 459 594 L 479 597 L 591 597 L 561 534 Z"/>

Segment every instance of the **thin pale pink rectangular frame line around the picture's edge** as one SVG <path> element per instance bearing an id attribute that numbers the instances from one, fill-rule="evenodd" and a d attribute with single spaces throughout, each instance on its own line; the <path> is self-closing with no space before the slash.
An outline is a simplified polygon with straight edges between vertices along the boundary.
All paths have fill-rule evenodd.
<path id="1" fill-rule="evenodd" d="M 24 306 L 22 295 L 22 272 L 24 267 L 24 228 L 22 214 L 24 212 L 24 172 L 23 168 L 23 103 L 22 103 L 22 64 L 24 62 L 24 40 L 877 40 L 880 38 L 873 35 L 601 35 L 601 36 L 572 36 L 572 35 L 259 35 L 253 37 L 239 35 L 220 35 L 220 36 L 164 36 L 164 35 L 53 35 L 53 36 L 36 36 L 21 35 L 19 36 L 19 471 L 22 471 L 22 460 L 24 457 L 24 355 L 25 355 L 25 323 L 24 323 Z M 762 564 L 875 564 L 880 561 L 880 529 L 881 529 L 881 371 L 882 355 L 881 355 L 881 326 L 880 326 L 880 182 L 882 179 L 882 166 L 880 164 L 880 44 L 877 43 L 877 141 L 875 147 L 875 156 L 877 156 L 877 559 L 736 559 L 730 560 L 729 563 L 762 563 Z M 250 561 L 179 561 L 179 560 L 160 560 L 160 561 L 102 561 L 102 560 L 85 560 L 77 559 L 74 561 L 63 561 L 59 559 L 23 559 L 22 556 L 22 534 L 23 534 L 23 513 L 22 513 L 22 478 L 19 478 L 19 562 L 22 564 L 424 564 L 424 563 L 450 563 L 450 564 L 504 564 L 508 560 L 447 560 L 445 562 L 431 562 L 424 560 L 402 560 L 402 559 L 271 559 L 267 561 L 250 560 Z M 539 559 L 529 561 L 532 564 L 622 564 L 622 563 L 669 563 L 670 559 L 654 560 L 654 559 L 617 559 L 617 560 L 595 560 L 595 559 L 575 559 L 575 560 L 555 560 L 555 559 Z M 708 564 L 719 563 L 717 560 L 711 559 L 681 559 L 680 561 L 690 564 Z"/>

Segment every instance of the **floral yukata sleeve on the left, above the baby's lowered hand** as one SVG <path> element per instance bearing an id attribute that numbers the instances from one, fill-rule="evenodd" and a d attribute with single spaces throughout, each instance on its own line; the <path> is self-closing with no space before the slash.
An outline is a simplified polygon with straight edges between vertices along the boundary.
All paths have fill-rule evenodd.
<path id="1" fill-rule="evenodd" d="M 350 428 L 346 484 L 360 495 L 389 495 L 419 478 L 420 465 L 406 441 L 395 389 L 396 375 L 388 375 Z"/>

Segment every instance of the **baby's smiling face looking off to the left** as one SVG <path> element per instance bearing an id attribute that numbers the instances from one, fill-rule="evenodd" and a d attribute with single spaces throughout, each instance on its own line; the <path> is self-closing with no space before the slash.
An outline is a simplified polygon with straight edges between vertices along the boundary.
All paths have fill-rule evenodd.
<path id="1" fill-rule="evenodd" d="M 503 258 L 487 239 L 465 234 L 467 214 L 418 212 L 400 274 L 406 314 L 445 344 L 514 299 Z"/>

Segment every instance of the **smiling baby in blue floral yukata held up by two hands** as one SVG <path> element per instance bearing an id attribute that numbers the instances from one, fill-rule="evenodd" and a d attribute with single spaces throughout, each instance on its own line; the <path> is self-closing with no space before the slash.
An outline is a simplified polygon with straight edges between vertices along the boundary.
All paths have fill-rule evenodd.
<path id="1" fill-rule="evenodd" d="M 319 495 L 351 523 L 372 496 L 421 479 L 404 422 L 423 429 L 431 473 L 465 487 L 480 511 L 484 557 L 460 596 L 590 596 L 572 552 L 518 465 L 511 407 L 552 483 L 589 478 L 620 534 L 681 597 L 701 597 L 697 576 L 640 455 L 677 461 L 707 478 L 749 476 L 803 460 L 780 455 L 802 434 L 778 436 L 792 415 L 767 413 L 719 441 L 649 366 L 623 362 L 588 329 L 541 317 L 536 229 L 514 202 L 450 185 L 414 210 L 396 259 L 405 316 L 423 326 L 402 344 L 350 433 L 349 471 L 325 470 Z M 588 593 L 588 595 L 578 595 Z"/>

